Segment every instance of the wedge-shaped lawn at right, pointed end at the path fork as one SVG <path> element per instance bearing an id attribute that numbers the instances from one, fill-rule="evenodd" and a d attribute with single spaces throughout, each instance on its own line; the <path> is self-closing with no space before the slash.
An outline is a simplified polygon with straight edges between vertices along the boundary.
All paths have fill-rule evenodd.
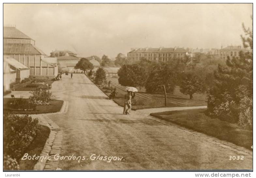
<path id="1" fill-rule="evenodd" d="M 251 150 L 252 130 L 244 129 L 238 124 L 210 118 L 204 112 L 205 109 L 191 109 L 151 113 L 150 115 Z"/>

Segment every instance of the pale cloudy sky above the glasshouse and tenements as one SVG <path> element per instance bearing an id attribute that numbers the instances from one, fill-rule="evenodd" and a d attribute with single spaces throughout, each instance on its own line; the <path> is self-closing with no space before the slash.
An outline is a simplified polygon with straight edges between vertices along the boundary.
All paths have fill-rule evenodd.
<path id="1" fill-rule="evenodd" d="M 16 25 L 46 54 L 69 49 L 83 57 L 242 45 L 250 15 L 252 4 L 4 4 L 4 25 Z"/>

